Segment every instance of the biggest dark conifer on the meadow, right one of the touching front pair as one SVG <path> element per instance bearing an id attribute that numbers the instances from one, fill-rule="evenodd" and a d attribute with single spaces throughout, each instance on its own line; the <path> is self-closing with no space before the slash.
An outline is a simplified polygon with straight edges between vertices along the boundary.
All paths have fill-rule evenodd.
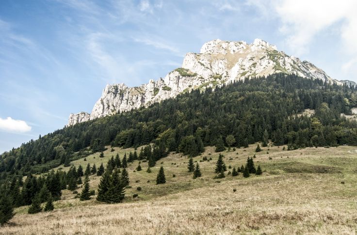
<path id="1" fill-rule="evenodd" d="M 123 170 L 125 171 L 125 169 Z M 121 203 L 125 196 L 124 182 L 121 180 L 118 169 L 115 169 L 111 175 L 109 188 L 106 195 L 106 202 Z"/>

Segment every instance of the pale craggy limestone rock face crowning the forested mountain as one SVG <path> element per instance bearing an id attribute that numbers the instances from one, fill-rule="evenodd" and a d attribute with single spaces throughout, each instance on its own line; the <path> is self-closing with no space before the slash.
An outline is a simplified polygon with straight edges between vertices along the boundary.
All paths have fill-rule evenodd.
<path id="1" fill-rule="evenodd" d="M 312 63 L 301 62 L 296 57 L 277 51 L 275 46 L 261 39 L 255 39 L 252 44 L 217 39 L 205 43 L 200 53 L 187 53 L 182 67 L 169 72 L 165 78 L 150 80 L 139 87 L 127 87 L 124 83 L 108 84 L 92 113 L 72 113 L 68 125 L 147 107 L 192 89 L 205 90 L 234 80 L 279 72 L 341 84 Z"/>

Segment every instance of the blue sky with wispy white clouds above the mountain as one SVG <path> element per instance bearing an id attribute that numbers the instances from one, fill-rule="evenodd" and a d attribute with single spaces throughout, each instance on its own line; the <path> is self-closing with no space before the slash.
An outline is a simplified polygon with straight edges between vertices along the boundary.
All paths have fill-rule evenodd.
<path id="1" fill-rule="evenodd" d="M 1 0 L 0 153 L 164 77 L 213 39 L 255 38 L 357 81 L 355 0 Z"/>

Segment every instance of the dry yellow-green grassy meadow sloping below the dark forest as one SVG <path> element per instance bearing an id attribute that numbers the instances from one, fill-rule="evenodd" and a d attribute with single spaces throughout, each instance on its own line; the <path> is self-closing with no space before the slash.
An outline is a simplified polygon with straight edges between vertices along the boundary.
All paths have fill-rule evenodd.
<path id="1" fill-rule="evenodd" d="M 260 153 L 255 147 L 223 152 L 224 160 L 227 167 L 237 168 L 256 154 L 260 176 L 232 177 L 227 169 L 226 178 L 214 179 L 218 154 L 213 147 L 194 158 L 212 158 L 199 163 L 202 177 L 197 179 L 187 172 L 188 158 L 181 154 L 162 158 L 151 173 L 146 172 L 147 162 L 134 172 L 134 161 L 128 167 L 131 188 L 124 203 L 102 204 L 95 198 L 81 202 L 64 190 L 52 212 L 29 215 L 27 207 L 17 208 L 0 234 L 356 234 L 357 147 L 283 151 L 280 146 Z M 104 158 L 97 153 L 72 163 L 99 167 L 116 153 L 123 157 L 132 151 L 114 150 L 108 149 Z M 161 165 L 167 183 L 156 185 Z M 97 189 L 99 177 L 90 179 L 91 188 Z M 133 199 L 135 193 L 139 197 Z"/>

